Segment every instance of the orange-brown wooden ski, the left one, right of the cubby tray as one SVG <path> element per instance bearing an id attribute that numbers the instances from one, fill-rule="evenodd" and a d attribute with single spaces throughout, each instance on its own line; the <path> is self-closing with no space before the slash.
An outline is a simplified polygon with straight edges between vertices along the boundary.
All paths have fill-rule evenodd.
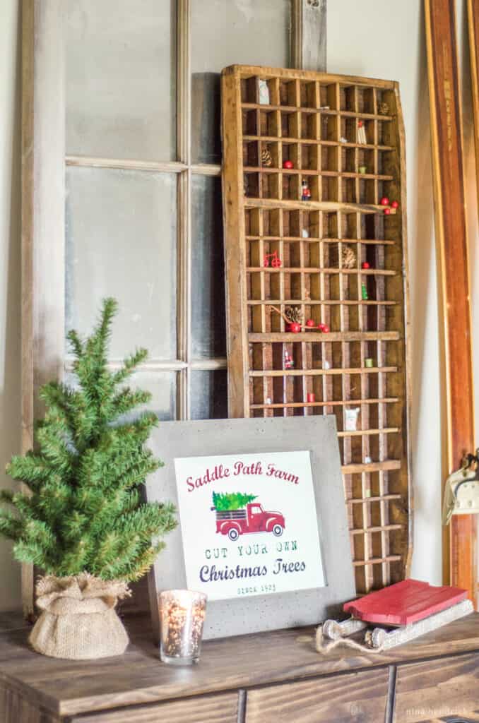
<path id="1" fill-rule="evenodd" d="M 444 478 L 474 451 L 469 264 L 465 215 L 462 118 L 453 0 L 425 0 L 436 213 L 436 247 L 445 376 Z M 454 270 L 454 273 L 451 273 Z M 445 529 L 444 583 L 477 587 L 476 520 L 454 515 Z"/>

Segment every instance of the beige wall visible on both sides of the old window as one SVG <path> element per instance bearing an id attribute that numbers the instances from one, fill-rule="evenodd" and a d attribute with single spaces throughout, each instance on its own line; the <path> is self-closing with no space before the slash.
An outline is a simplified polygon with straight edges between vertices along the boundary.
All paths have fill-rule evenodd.
<path id="1" fill-rule="evenodd" d="M 0 469 L 20 444 L 20 159 L 18 1 L 0 2 Z M 412 451 L 415 552 L 412 574 L 441 581 L 441 429 L 433 189 L 423 1 L 329 0 L 328 69 L 399 80 L 407 134 L 412 320 Z M 467 37 L 457 0 L 472 278 L 478 278 L 474 155 Z M 464 42 L 462 42 L 464 39 Z M 453 270 L 452 270 L 453 271 Z M 478 273 L 476 273 L 478 272 Z M 477 286 L 477 284 L 476 284 Z M 473 321 L 479 291 L 472 288 Z M 475 355 L 479 375 L 479 354 Z M 477 399 L 476 399 L 477 401 Z M 476 404 L 476 410 L 479 409 Z M 0 484 L 7 479 L 0 472 Z M 20 604 L 20 576 L 0 541 L 0 609 Z"/>

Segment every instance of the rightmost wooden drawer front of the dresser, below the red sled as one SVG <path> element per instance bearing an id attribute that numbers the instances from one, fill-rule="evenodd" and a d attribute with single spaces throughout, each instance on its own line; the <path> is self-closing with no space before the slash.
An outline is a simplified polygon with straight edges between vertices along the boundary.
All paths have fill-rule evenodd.
<path id="1" fill-rule="evenodd" d="M 423 723 L 436 719 L 479 721 L 478 711 L 478 655 L 398 667 L 394 723 Z"/>

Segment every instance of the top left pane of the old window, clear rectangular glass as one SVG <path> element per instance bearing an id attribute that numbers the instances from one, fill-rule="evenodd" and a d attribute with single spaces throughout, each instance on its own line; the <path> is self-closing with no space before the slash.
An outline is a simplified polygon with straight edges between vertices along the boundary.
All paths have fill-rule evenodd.
<path id="1" fill-rule="evenodd" d="M 172 0 L 68 0 L 67 153 L 175 154 Z"/>

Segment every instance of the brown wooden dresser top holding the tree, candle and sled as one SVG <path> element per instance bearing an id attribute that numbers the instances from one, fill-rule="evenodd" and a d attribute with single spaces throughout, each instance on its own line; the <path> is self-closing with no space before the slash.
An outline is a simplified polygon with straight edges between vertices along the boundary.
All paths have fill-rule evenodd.
<path id="1" fill-rule="evenodd" d="M 0 681 L 54 714 L 74 715 L 479 651 L 479 613 L 381 654 L 322 656 L 313 628 L 208 641 L 194 667 L 159 661 L 148 617 L 131 618 L 127 627 L 123 656 L 73 662 L 34 653 L 20 615 L 0 615 Z"/>

